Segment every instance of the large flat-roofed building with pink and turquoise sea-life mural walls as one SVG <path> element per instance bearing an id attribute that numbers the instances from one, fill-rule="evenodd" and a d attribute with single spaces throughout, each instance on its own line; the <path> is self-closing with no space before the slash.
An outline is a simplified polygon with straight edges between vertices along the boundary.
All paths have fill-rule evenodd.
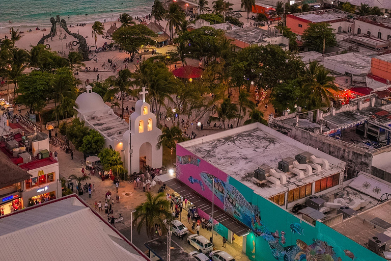
<path id="1" fill-rule="evenodd" d="M 383 260 L 327 225 L 343 201 L 320 199 L 343 189 L 344 171 L 343 161 L 254 123 L 177 144 L 176 178 L 158 178 L 207 220 L 214 201 L 215 231 L 235 236 L 250 260 Z M 309 200 L 299 215 L 288 211 Z"/>

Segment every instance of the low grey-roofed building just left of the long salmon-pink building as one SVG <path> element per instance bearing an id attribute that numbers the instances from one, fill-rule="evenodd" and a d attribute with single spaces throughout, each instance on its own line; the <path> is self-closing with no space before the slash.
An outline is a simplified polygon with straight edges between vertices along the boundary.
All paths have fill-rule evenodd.
<path id="1" fill-rule="evenodd" d="M 252 45 L 278 45 L 284 50 L 289 50 L 289 38 L 282 36 L 278 30 L 263 30 L 258 27 L 247 27 L 231 32 L 226 32 L 226 37 L 233 40 L 237 50 Z"/>

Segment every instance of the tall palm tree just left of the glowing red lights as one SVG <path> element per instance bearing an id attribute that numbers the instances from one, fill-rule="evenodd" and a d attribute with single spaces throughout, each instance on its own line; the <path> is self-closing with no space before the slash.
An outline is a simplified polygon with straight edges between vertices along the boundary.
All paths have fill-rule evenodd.
<path id="1" fill-rule="evenodd" d="M 318 68 L 314 81 L 305 83 L 304 88 L 309 88 L 311 96 L 318 102 L 322 103 L 322 100 L 326 101 L 326 104 L 330 104 L 329 97 L 333 96 L 330 90 L 338 91 L 338 87 L 334 85 L 335 77 L 328 75 L 329 71 L 324 67 Z"/>

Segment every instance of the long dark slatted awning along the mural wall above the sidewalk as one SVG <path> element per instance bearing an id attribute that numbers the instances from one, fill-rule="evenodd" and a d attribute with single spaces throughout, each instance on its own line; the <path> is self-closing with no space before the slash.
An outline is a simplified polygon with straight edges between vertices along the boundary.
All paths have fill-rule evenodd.
<path id="1" fill-rule="evenodd" d="M 212 202 L 192 190 L 179 179 L 173 178 L 164 183 L 166 186 L 169 186 L 175 192 L 179 193 L 183 198 L 186 198 L 188 201 L 200 208 L 210 217 L 212 216 Z M 250 231 L 249 227 L 229 215 L 224 210 L 221 210 L 221 208 L 216 205 L 214 206 L 214 219 L 221 225 L 227 227 L 233 233 L 237 234 L 239 237 L 245 236 Z"/>

